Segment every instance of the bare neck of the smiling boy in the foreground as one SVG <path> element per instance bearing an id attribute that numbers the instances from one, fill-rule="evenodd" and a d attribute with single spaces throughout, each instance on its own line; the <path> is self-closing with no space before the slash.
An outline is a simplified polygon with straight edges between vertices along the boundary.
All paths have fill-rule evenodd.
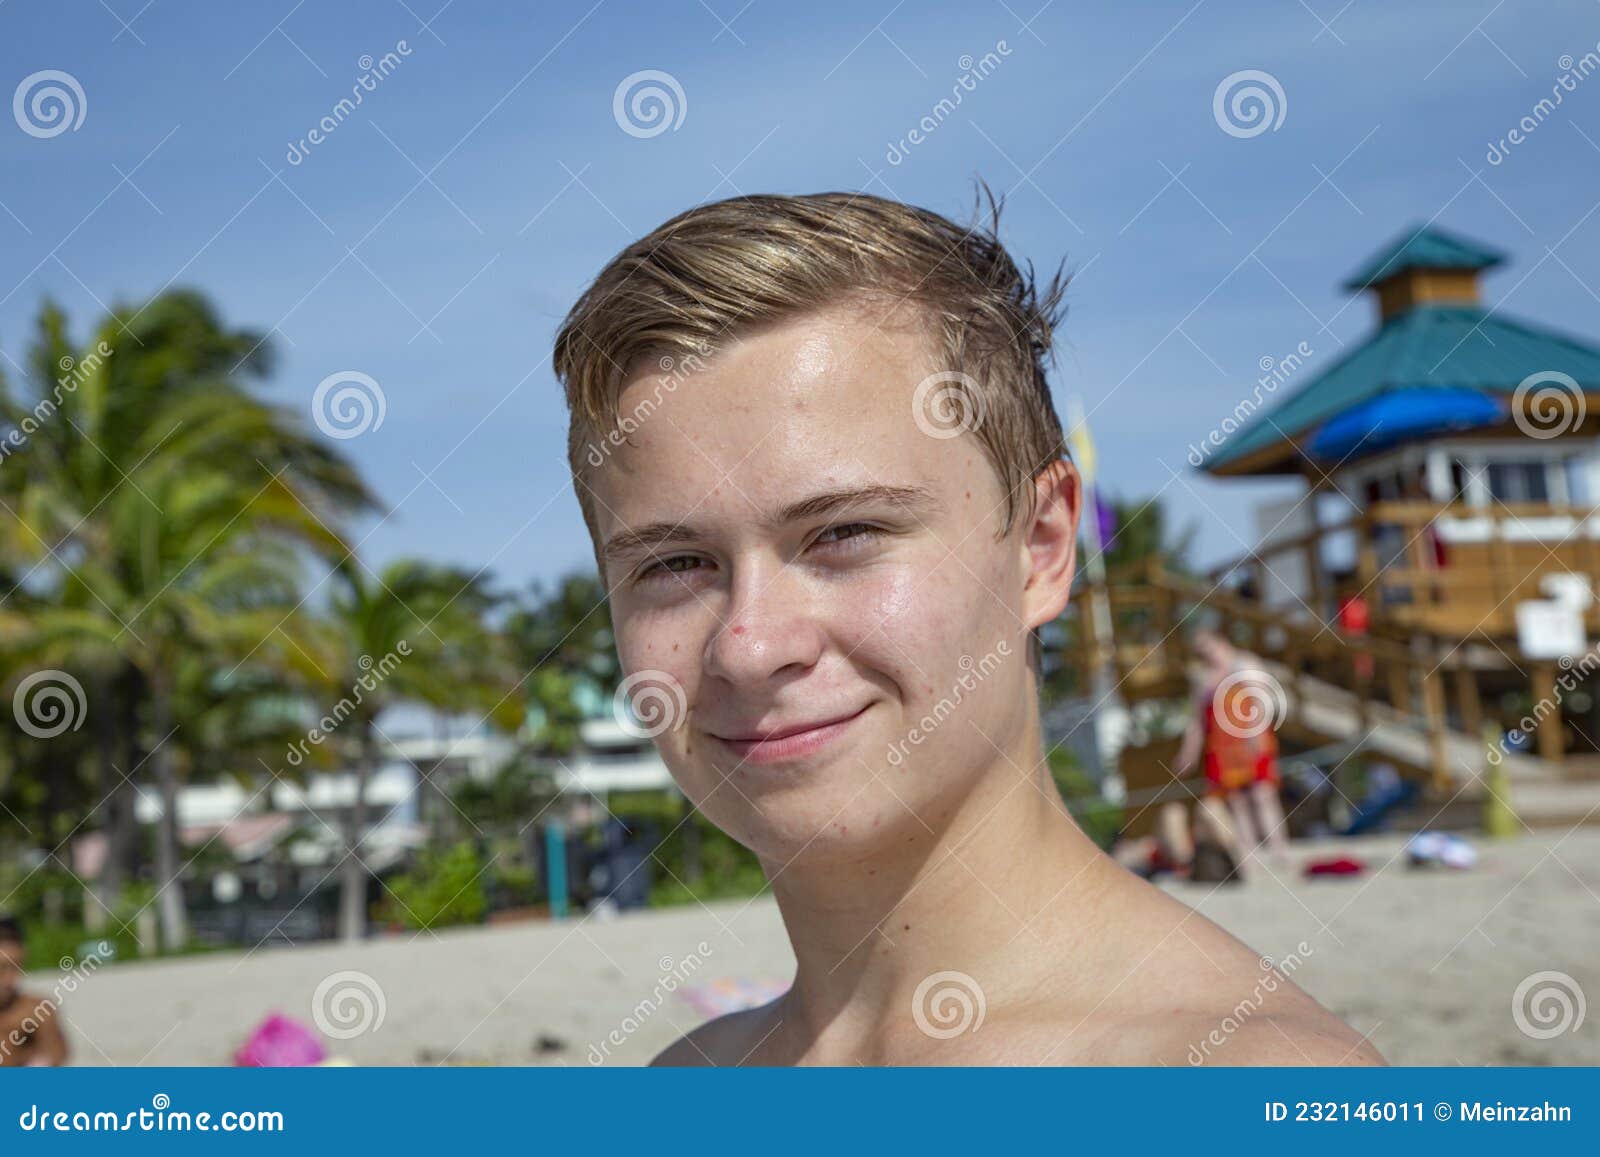
<path id="1" fill-rule="evenodd" d="M 1102 885 L 1090 869 L 1104 858 L 1061 803 L 1037 739 L 1027 747 L 997 752 L 936 829 L 917 823 L 912 840 L 859 863 L 770 872 L 798 965 L 782 1005 L 790 1051 L 864 1059 L 893 1037 L 886 1027 L 915 1032 L 917 989 L 934 973 L 968 975 L 994 1008 L 1051 967 L 1046 930 L 1090 915 L 1080 909 Z"/>

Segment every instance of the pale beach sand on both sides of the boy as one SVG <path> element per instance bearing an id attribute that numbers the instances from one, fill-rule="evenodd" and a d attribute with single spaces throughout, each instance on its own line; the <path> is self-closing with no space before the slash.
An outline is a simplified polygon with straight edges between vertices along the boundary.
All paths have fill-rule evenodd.
<path id="1" fill-rule="evenodd" d="M 1547 1040 L 1512 1016 L 1517 986 L 1539 971 L 1600 1000 L 1600 829 L 1480 847 L 1475 871 L 1434 874 L 1408 869 L 1394 837 L 1298 845 L 1294 864 L 1346 853 L 1381 871 L 1173 891 L 1278 960 L 1304 941 L 1296 983 L 1397 1064 L 1600 1064 L 1600 1007 Z M 64 1013 L 78 1064 L 227 1064 L 262 1015 L 310 1023 L 318 984 L 358 970 L 381 987 L 384 1018 L 330 1042 L 355 1063 L 642 1064 L 701 1019 L 662 986 L 696 955 L 694 979 L 792 970 L 776 907 L 757 899 L 117 965 L 66 997 Z M 621 1045 L 606 1042 L 613 1031 Z M 541 1051 L 541 1035 L 563 1047 Z"/>

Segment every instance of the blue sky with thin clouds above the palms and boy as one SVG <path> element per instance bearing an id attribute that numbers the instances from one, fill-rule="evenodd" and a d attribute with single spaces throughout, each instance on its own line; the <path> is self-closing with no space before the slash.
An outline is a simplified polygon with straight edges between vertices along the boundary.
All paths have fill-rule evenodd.
<path id="1" fill-rule="evenodd" d="M 1370 331 L 1336 286 L 1408 224 L 1509 250 L 1490 301 L 1600 338 L 1600 77 L 1486 160 L 1597 42 L 1579 0 L 10 0 L 0 96 L 56 69 L 85 112 L 48 138 L 0 117 L 0 350 L 21 357 L 45 296 L 82 333 L 102 302 L 202 288 L 274 330 L 272 397 L 309 411 L 331 373 L 379 382 L 382 426 L 344 442 L 394 507 L 363 526 L 368 562 L 520 584 L 592 565 L 549 347 L 611 254 L 747 192 L 958 216 L 982 176 L 1013 253 L 1078 270 L 1054 390 L 1083 398 L 1102 485 L 1160 491 L 1219 560 L 1294 486 L 1206 480 L 1187 446 L 1261 358 L 1306 342 L 1314 371 Z M 384 53 L 398 64 L 290 163 Z M 891 163 L 986 53 L 998 66 Z M 613 96 L 646 69 L 683 115 L 635 136 Z M 1235 136 L 1213 96 L 1246 69 L 1283 117 Z"/>

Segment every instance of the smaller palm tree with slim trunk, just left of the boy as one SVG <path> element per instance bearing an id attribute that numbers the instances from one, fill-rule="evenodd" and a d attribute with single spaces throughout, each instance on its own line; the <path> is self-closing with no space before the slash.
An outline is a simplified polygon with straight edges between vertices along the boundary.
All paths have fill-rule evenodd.
<path id="1" fill-rule="evenodd" d="M 523 703 L 486 616 L 499 602 L 480 574 L 400 560 L 379 574 L 354 560 L 338 568 L 334 627 L 325 687 L 342 696 L 333 715 L 352 733 L 355 797 L 344 823 L 339 935 L 366 933 L 366 794 L 378 770 L 378 717 L 398 701 L 482 712 L 506 730 L 522 725 Z"/>

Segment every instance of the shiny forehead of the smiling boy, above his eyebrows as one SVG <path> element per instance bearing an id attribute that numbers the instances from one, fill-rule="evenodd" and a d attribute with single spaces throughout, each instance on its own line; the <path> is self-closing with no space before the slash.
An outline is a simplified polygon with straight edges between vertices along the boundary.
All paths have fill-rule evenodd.
<path id="1" fill-rule="evenodd" d="M 954 480 L 981 454 L 915 421 L 933 366 L 915 328 L 843 310 L 741 336 L 693 373 L 650 365 L 622 390 L 627 438 L 590 454 L 597 517 L 614 528 L 664 504 L 766 512 L 826 486 Z"/>

